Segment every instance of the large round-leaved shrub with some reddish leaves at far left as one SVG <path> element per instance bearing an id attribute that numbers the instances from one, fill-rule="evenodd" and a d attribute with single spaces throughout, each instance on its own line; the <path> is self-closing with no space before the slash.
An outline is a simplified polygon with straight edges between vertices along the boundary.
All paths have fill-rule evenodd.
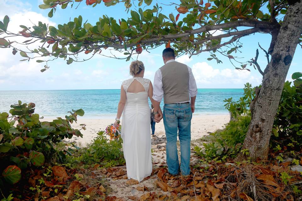
<path id="1" fill-rule="evenodd" d="M 71 128 L 77 115 L 83 116 L 82 109 L 70 111 L 66 119 L 58 117 L 52 122 L 41 122 L 39 114 L 34 114 L 35 104 L 11 105 L 8 115 L 0 113 L 0 172 L 4 180 L 10 184 L 21 179 L 21 170 L 28 166 L 42 166 L 55 152 L 54 145 L 62 139 L 73 135 L 82 137 L 80 130 Z M 85 129 L 85 125 L 83 125 Z M 63 151 L 60 160 L 65 159 Z M 0 185 L 3 182 L 0 177 Z"/>

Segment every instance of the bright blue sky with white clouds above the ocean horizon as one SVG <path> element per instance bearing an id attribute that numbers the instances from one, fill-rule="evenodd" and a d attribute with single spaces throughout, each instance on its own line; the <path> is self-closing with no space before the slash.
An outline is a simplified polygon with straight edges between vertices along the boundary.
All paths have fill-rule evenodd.
<path id="1" fill-rule="evenodd" d="M 114 17 L 115 19 L 127 18 L 125 7 L 122 3 L 105 7 L 98 4 L 95 8 L 87 6 L 82 2 L 77 9 L 77 3 L 73 8 L 70 6 L 64 10 L 57 9 L 53 18 L 48 18 L 49 10 L 41 10 L 38 5 L 42 4 L 42 0 L 24 0 L 24 1 L 8 1 L 0 2 L 0 18 L 3 19 L 8 15 L 11 22 L 8 30 L 20 31 L 20 24 L 31 26 L 31 22 L 37 23 L 42 21 L 50 25 L 64 24 L 82 15 L 83 21 L 95 24 L 98 18 L 103 14 Z M 178 14 L 174 6 L 161 5 L 163 14 Z M 131 9 L 136 9 L 132 6 Z M 24 41 L 25 39 L 21 39 Z M 243 43 L 242 53 L 233 56 L 243 57 L 241 61 L 247 61 L 255 57 L 255 51 L 260 45 L 268 49 L 271 41 L 269 34 L 255 34 L 243 37 L 240 42 Z M 139 55 L 138 60 L 145 64 L 145 77 L 153 81 L 155 71 L 163 65 L 161 52 L 164 49 L 161 46 L 151 53 L 143 52 Z M 0 54 L 0 90 L 63 90 L 63 89 L 119 89 L 123 80 L 130 78 L 129 64 L 126 60 L 117 60 L 96 55 L 93 59 L 86 62 L 73 62 L 66 64 L 63 59 L 58 59 L 49 63 L 50 70 L 44 73 L 40 72 L 43 63 L 35 61 L 20 62 L 22 57 L 18 54 L 15 56 L 11 53 L 12 49 L 1 49 Z M 262 69 L 266 67 L 266 57 L 261 50 L 258 62 Z M 114 52 L 113 52 L 114 53 Z M 301 48 L 297 47 L 294 59 L 288 72 L 288 80 L 292 73 L 301 71 Z M 107 51 L 109 54 L 109 51 Z M 189 59 L 187 56 L 178 58 L 179 62 L 186 63 L 193 69 L 198 88 L 243 88 L 246 82 L 252 83 L 254 86 L 261 83 L 261 75 L 258 71 L 251 68 L 251 72 L 235 70 L 231 62 L 223 56 L 217 54 L 222 60 L 222 64 L 217 64 L 215 60 L 208 61 L 209 53 L 204 52 L 199 56 L 193 56 Z M 85 55 L 80 55 L 85 58 Z M 238 64 L 238 66 L 240 66 Z"/>

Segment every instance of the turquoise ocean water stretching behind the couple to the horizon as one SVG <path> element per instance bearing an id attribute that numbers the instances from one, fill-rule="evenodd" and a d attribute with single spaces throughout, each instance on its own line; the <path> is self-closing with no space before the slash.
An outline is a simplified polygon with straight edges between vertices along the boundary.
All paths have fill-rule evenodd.
<path id="1" fill-rule="evenodd" d="M 195 113 L 227 114 L 223 100 L 230 97 L 238 100 L 242 95 L 243 89 L 199 89 Z M 112 118 L 117 112 L 120 90 L 0 91 L 0 112 L 8 112 L 10 105 L 18 103 L 18 100 L 35 103 L 35 112 L 44 117 L 64 117 L 71 109 L 82 108 L 85 115 L 81 118 Z"/>

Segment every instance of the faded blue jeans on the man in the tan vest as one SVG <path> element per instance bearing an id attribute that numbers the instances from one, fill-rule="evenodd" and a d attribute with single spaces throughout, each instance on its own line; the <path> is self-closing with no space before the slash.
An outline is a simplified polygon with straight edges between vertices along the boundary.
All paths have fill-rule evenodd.
<path id="1" fill-rule="evenodd" d="M 191 149 L 191 119 L 190 103 L 176 103 L 164 105 L 164 126 L 167 138 L 166 153 L 168 171 L 170 174 L 190 174 Z M 180 141 L 181 163 L 179 167 L 177 154 L 177 130 Z"/>

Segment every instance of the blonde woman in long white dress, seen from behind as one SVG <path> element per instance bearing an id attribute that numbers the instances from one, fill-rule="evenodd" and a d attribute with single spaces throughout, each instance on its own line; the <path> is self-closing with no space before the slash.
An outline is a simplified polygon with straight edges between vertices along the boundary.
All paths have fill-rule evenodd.
<path id="1" fill-rule="evenodd" d="M 123 139 L 124 157 L 126 160 L 128 179 L 141 182 L 151 175 L 151 132 L 150 107 L 148 97 L 153 103 L 153 86 L 144 77 L 145 67 L 141 61 L 130 64 L 130 74 L 133 76 L 123 82 L 120 88 L 120 102 L 114 126 L 123 112 L 121 137 Z M 159 110 L 162 116 L 162 111 Z"/>

